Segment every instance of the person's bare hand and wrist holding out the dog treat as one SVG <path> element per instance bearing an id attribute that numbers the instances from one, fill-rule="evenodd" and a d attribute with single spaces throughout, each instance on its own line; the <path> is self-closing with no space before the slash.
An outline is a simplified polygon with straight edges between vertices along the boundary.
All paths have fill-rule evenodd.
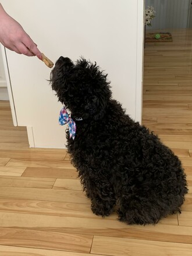
<path id="1" fill-rule="evenodd" d="M 37 44 L 23 30 L 23 27 L 10 17 L 0 3 L 0 42 L 11 51 L 26 56 L 37 56 L 42 60 Z"/>

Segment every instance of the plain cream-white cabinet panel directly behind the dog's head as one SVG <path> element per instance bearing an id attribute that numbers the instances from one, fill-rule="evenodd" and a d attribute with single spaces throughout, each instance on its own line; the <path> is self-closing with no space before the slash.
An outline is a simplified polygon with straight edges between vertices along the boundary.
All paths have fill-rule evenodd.
<path id="1" fill-rule="evenodd" d="M 143 0 L 2 0 L 52 61 L 83 55 L 106 70 L 113 97 L 141 121 Z M 62 108 L 47 79 L 51 70 L 37 58 L 6 50 L 17 123 L 28 126 L 30 145 L 64 147 Z M 33 134 L 32 134 L 33 131 Z M 33 135 L 33 136 L 32 136 Z"/>

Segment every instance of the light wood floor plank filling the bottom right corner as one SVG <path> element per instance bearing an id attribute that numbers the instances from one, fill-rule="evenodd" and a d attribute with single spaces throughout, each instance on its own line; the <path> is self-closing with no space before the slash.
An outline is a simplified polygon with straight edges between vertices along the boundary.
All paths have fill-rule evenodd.
<path id="1" fill-rule="evenodd" d="M 91 253 L 113 256 L 191 256 L 192 244 L 95 236 Z"/>

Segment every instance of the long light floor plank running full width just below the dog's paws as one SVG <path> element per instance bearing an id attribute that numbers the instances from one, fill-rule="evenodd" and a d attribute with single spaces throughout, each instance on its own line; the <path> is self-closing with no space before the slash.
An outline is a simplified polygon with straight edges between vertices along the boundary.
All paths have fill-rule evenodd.
<path id="1" fill-rule="evenodd" d="M 29 221 L 30 219 L 30 221 Z M 165 219 L 170 223 L 169 219 Z M 0 212 L 0 226 L 33 229 L 49 232 L 77 234 L 97 234 L 115 237 L 137 237 L 148 240 L 179 241 L 192 243 L 192 227 L 180 227 L 160 223 L 153 226 L 129 226 L 126 223 L 101 216 L 95 218 L 76 218 Z"/>

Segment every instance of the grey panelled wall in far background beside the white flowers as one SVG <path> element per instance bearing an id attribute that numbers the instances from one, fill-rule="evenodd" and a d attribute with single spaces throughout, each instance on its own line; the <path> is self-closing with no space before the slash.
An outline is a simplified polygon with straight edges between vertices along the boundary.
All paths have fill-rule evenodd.
<path id="1" fill-rule="evenodd" d="M 145 7 L 154 6 L 155 18 L 146 29 L 186 29 L 191 0 L 145 0 Z"/>

